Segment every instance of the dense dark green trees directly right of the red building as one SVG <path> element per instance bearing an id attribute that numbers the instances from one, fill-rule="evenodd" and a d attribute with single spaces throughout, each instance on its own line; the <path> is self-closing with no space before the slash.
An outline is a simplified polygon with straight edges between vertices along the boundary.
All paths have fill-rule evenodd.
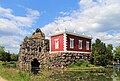
<path id="1" fill-rule="evenodd" d="M 95 65 L 106 66 L 112 61 L 112 45 L 106 47 L 100 39 L 92 44 L 92 62 Z"/>

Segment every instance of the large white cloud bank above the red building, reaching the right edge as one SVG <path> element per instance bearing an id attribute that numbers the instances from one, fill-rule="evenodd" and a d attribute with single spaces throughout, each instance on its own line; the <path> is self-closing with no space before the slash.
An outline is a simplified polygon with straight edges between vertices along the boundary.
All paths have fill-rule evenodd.
<path id="1" fill-rule="evenodd" d="M 69 16 L 58 17 L 54 22 L 42 27 L 48 36 L 59 27 L 61 30 L 91 34 L 93 40 L 100 38 L 114 46 L 120 42 L 120 0 L 80 0 L 80 8 L 70 11 Z M 68 13 L 68 12 L 67 12 Z M 58 24 L 58 25 L 56 25 Z"/>

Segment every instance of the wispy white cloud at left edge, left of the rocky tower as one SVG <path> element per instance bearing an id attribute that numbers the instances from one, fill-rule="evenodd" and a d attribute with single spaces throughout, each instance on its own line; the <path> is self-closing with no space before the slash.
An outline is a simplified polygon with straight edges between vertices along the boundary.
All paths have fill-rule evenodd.
<path id="1" fill-rule="evenodd" d="M 22 39 L 30 34 L 26 28 L 32 27 L 39 16 L 37 10 L 26 9 L 26 16 L 16 16 L 12 9 L 0 7 L 0 45 L 18 53 Z"/>

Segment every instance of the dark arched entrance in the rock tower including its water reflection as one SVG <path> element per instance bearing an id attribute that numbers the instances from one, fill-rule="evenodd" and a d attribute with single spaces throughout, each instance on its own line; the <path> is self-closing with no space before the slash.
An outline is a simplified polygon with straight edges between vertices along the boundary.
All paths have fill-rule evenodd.
<path id="1" fill-rule="evenodd" d="M 39 70 L 40 70 L 39 65 L 40 65 L 40 63 L 38 62 L 38 60 L 33 59 L 33 61 L 31 62 L 31 72 L 33 74 L 37 74 L 39 72 Z"/>

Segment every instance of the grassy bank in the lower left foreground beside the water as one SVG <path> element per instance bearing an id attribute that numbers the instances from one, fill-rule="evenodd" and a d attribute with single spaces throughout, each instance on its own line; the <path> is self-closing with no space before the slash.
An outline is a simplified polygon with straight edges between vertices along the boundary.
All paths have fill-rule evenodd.
<path id="1" fill-rule="evenodd" d="M 49 71 L 43 71 L 39 75 L 33 75 L 17 70 L 9 62 L 0 61 L 0 76 L 8 81 L 55 81 L 50 78 L 51 74 Z"/>

